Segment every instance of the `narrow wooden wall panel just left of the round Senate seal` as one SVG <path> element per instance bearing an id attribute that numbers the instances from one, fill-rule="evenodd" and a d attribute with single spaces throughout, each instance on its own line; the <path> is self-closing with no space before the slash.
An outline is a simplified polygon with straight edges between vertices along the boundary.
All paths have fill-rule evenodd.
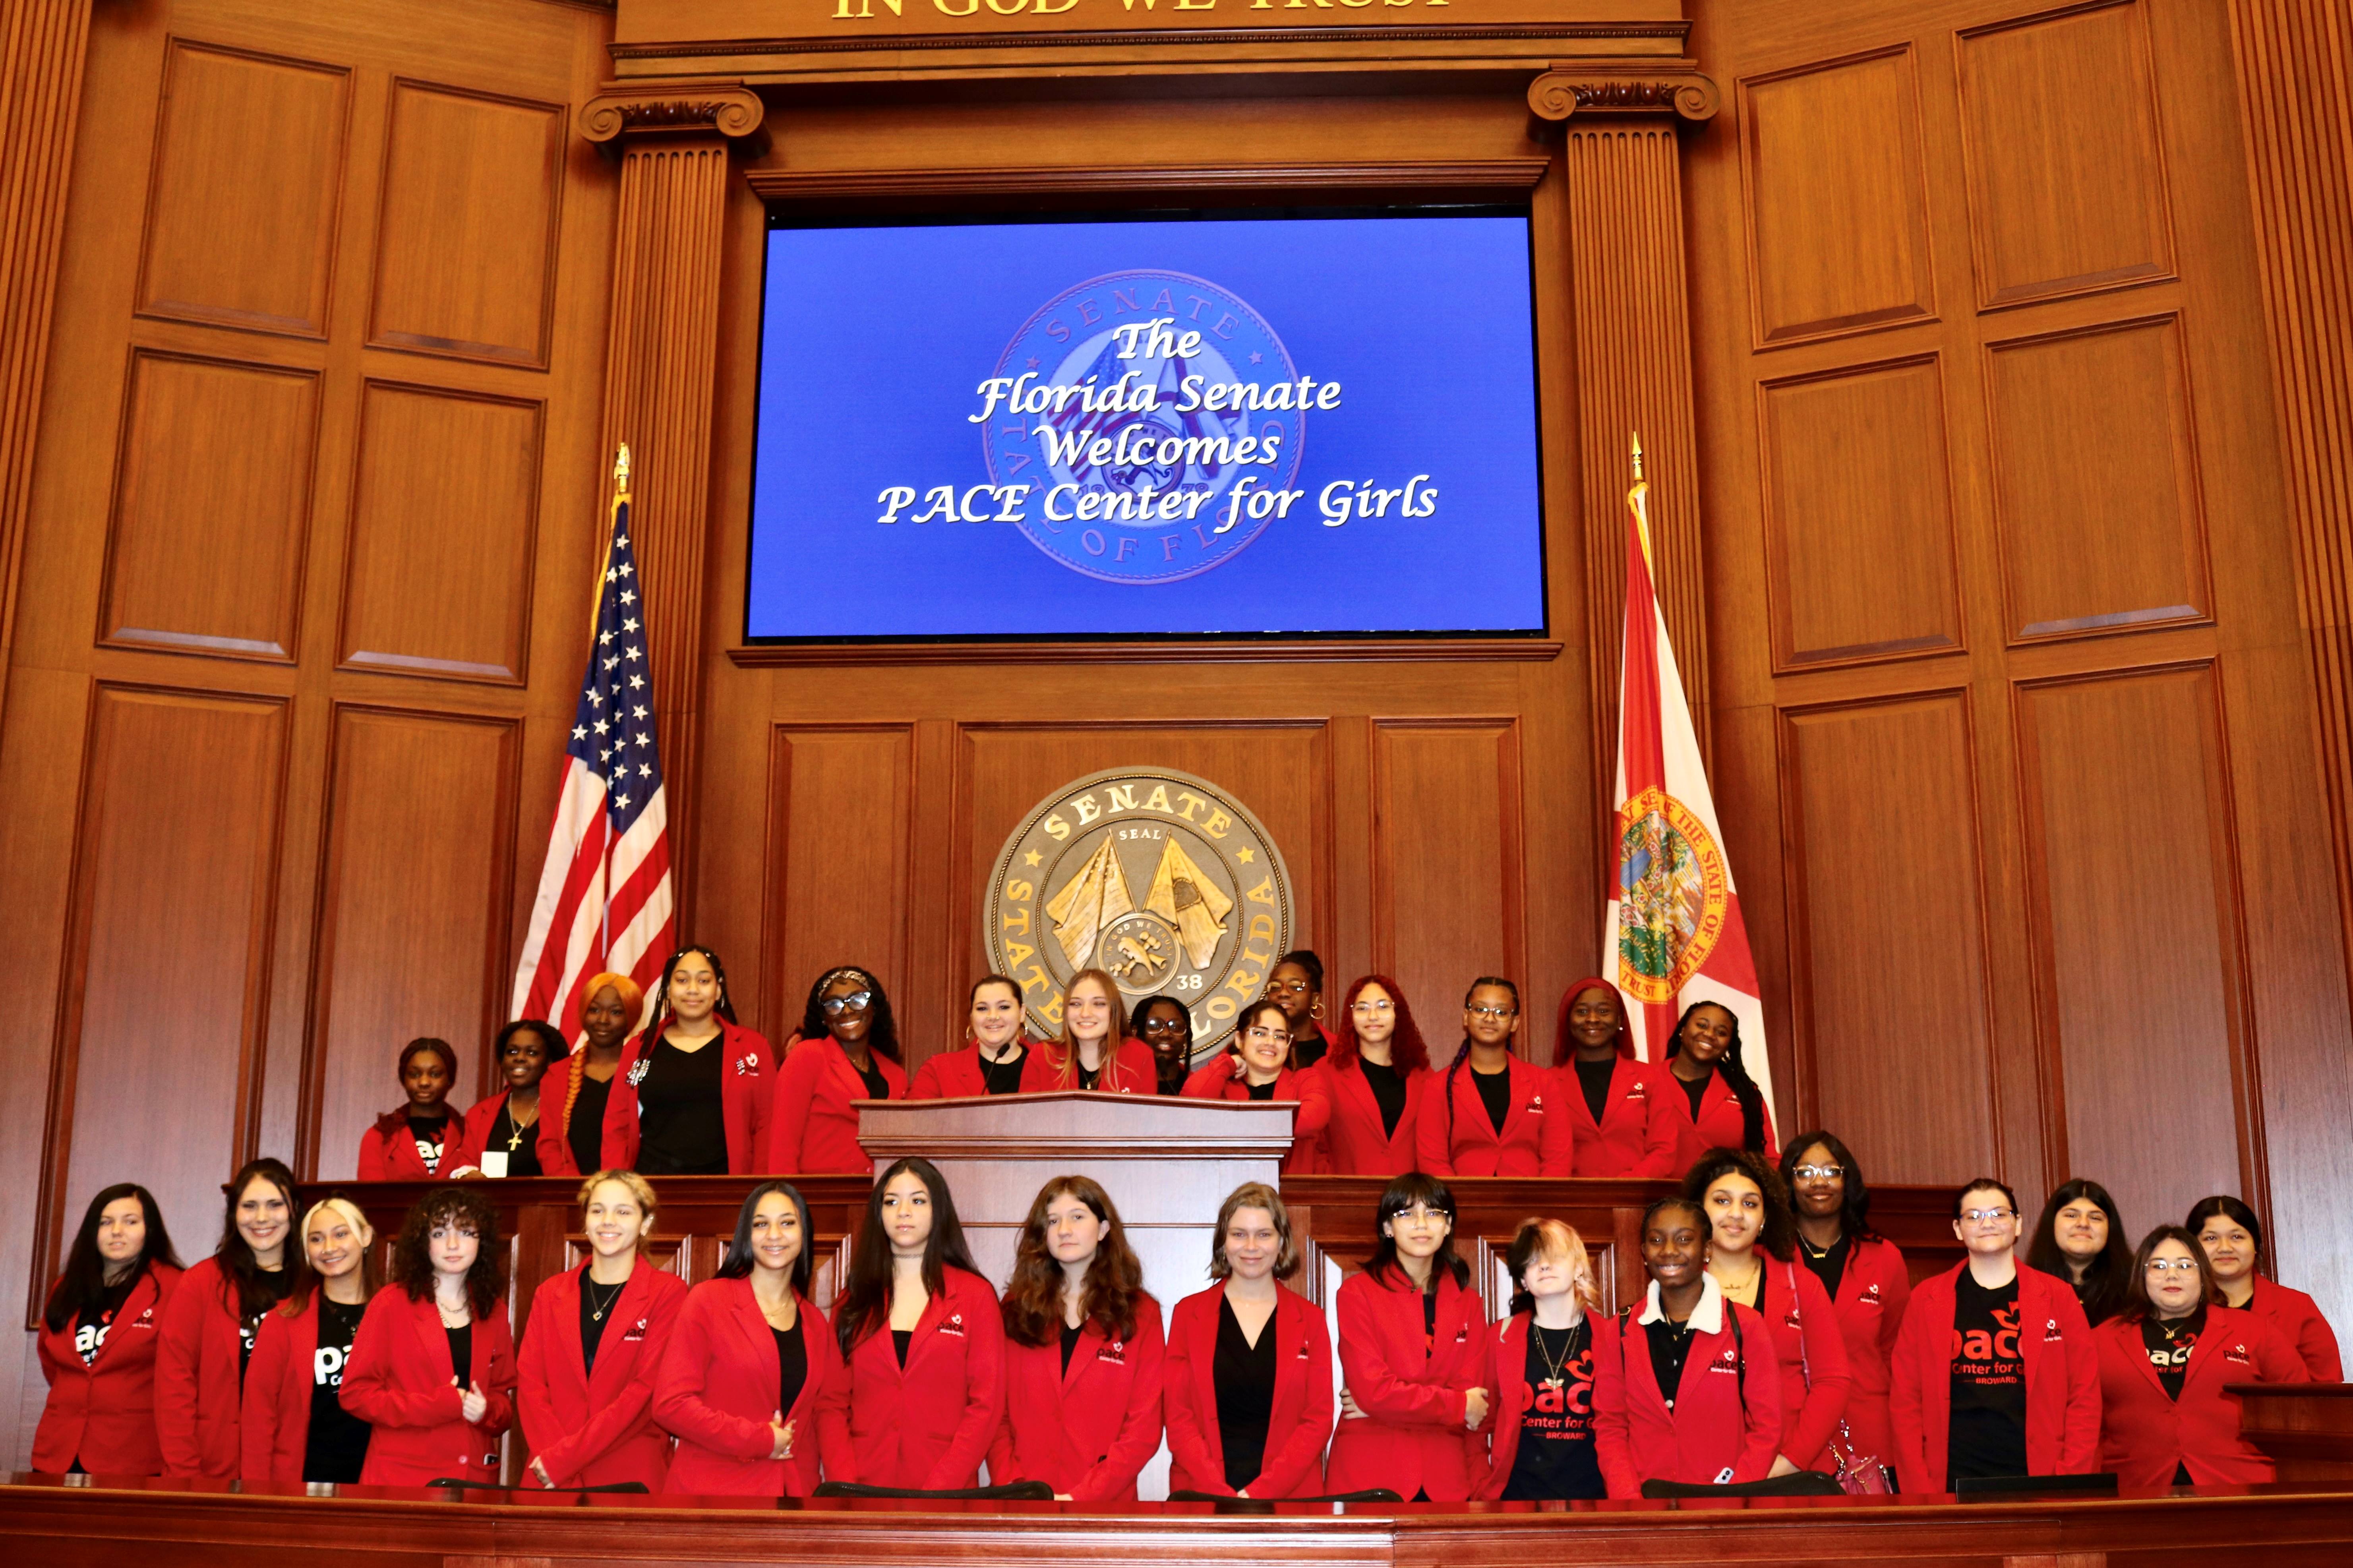
<path id="1" fill-rule="evenodd" d="M 892 999 L 906 1067 L 932 1053 L 899 1011 L 918 903 L 915 745 L 913 724 L 779 724 L 769 738 L 760 969 L 772 1046 L 800 1027 L 816 976 L 859 964 Z"/>

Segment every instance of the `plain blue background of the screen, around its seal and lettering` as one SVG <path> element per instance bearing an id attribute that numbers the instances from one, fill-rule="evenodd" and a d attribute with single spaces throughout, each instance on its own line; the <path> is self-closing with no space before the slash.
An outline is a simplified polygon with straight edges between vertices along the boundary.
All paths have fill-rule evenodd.
<path id="1" fill-rule="evenodd" d="M 1125 268 L 1233 292 L 1341 381 L 1289 515 L 1172 583 L 1085 576 L 1014 524 L 878 524 L 889 484 L 988 482 L 979 383 L 1040 306 Z M 746 637 L 1541 632 L 1525 216 L 769 230 Z M 1325 527 L 1327 482 L 1417 473 L 1435 515 Z"/>

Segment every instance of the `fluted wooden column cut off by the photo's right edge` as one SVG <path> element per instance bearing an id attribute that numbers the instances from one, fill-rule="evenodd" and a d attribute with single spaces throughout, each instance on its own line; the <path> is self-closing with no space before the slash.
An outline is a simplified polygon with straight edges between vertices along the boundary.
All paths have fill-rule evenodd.
<path id="1" fill-rule="evenodd" d="M 2233 0 L 2231 40 L 2337 900 L 2353 943 L 2353 14 L 2344 0 Z"/>

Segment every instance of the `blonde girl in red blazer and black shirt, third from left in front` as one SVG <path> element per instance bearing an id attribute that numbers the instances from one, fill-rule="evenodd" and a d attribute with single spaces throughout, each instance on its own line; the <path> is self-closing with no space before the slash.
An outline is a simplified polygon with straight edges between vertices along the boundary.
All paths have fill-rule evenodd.
<path id="1" fill-rule="evenodd" d="M 261 1319 L 245 1368 L 238 1476 L 245 1481 L 358 1481 L 367 1422 L 344 1408 L 344 1368 L 367 1298 L 376 1293 L 376 1232 L 351 1199 L 322 1199 L 301 1218 L 311 1279 Z"/>

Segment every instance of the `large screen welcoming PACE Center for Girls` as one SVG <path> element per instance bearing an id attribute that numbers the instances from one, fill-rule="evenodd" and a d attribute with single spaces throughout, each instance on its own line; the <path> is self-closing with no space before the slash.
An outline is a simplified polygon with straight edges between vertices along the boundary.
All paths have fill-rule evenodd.
<path id="1" fill-rule="evenodd" d="M 1527 214 L 776 223 L 751 642 L 1537 635 Z"/>

